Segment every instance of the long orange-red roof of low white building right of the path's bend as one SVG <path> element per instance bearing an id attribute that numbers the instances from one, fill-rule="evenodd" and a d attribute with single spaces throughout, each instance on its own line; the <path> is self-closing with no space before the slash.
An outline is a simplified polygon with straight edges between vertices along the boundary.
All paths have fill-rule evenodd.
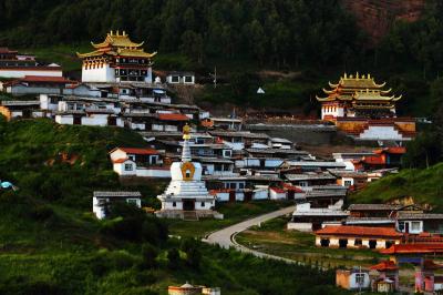
<path id="1" fill-rule="evenodd" d="M 359 236 L 389 236 L 401 237 L 403 234 L 395 232 L 392 227 L 371 226 L 326 226 L 316 232 L 318 235 L 359 235 Z"/>

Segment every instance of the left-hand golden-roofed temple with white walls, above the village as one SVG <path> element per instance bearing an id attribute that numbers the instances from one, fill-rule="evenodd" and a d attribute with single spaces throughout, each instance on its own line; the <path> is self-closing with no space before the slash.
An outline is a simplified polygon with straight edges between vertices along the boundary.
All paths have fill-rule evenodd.
<path id="1" fill-rule="evenodd" d="M 143 43 L 131 41 L 125 31 L 111 31 L 103 42 L 91 42 L 94 51 L 76 53 L 83 60 L 82 81 L 152 83 L 152 59 L 156 52 L 145 52 Z"/>

